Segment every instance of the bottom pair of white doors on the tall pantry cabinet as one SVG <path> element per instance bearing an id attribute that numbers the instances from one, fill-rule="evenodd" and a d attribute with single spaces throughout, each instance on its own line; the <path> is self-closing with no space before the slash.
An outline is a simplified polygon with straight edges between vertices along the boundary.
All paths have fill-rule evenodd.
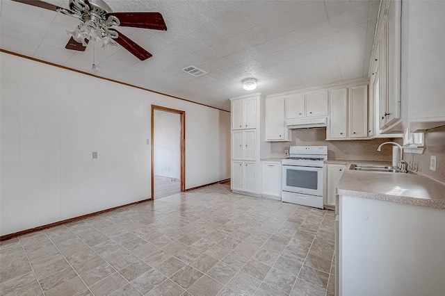
<path id="1" fill-rule="evenodd" d="M 232 161 L 232 190 L 257 193 L 257 162 Z"/>

